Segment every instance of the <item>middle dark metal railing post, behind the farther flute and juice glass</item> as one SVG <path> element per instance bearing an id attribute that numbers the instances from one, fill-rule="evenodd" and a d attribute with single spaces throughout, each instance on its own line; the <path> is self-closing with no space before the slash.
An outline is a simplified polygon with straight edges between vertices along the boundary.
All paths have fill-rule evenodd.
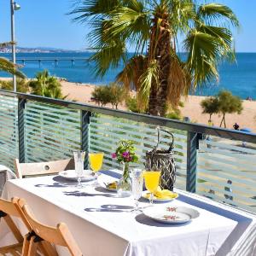
<path id="1" fill-rule="evenodd" d="M 89 165 L 88 152 L 90 150 L 90 140 L 89 140 L 90 116 L 91 116 L 91 113 L 89 111 L 81 110 L 81 150 L 84 150 L 86 153 L 85 160 L 84 160 L 85 169 L 88 169 L 88 165 Z"/>

